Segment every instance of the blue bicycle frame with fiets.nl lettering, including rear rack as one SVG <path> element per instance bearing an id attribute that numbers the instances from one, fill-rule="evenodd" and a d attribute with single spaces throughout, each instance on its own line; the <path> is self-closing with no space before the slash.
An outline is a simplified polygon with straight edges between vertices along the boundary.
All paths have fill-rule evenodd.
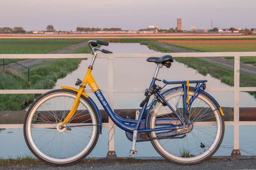
<path id="1" fill-rule="evenodd" d="M 204 91 L 204 89 L 202 89 L 202 86 L 203 86 L 203 83 L 206 82 L 207 80 L 193 80 L 193 81 L 189 81 L 190 83 L 196 83 L 196 96 L 194 97 L 191 97 L 190 99 L 190 105 L 191 103 L 193 103 L 193 100 L 195 100 L 195 98 L 201 93 Z M 156 79 L 155 78 L 152 78 L 152 81 L 150 83 L 150 87 L 149 89 L 151 89 L 153 87 L 153 85 L 155 84 L 156 82 Z M 167 84 L 182 84 L 181 87 L 178 87 L 178 88 L 183 88 L 184 89 L 184 95 L 183 95 L 183 107 L 184 107 L 184 118 L 185 118 L 185 115 L 186 115 L 186 111 L 188 110 L 188 107 L 190 106 L 188 103 L 186 103 L 187 101 L 187 93 L 188 93 L 188 85 L 186 84 L 187 81 L 166 81 L 166 80 L 163 80 L 164 83 Z M 170 108 L 170 110 L 173 111 L 173 113 L 177 116 L 177 118 L 179 119 L 179 121 L 182 123 L 180 125 L 175 125 L 173 126 L 172 124 L 165 124 L 166 127 L 157 127 L 157 128 L 154 128 L 154 129 L 148 129 L 148 126 L 147 126 L 147 122 L 148 122 L 148 117 L 149 117 L 149 114 L 150 114 L 150 109 L 148 110 L 147 112 L 147 118 L 146 118 L 146 126 L 145 128 L 143 129 L 139 129 L 140 125 L 141 125 L 141 122 L 142 122 L 142 118 L 143 116 L 145 115 L 145 111 L 146 111 L 146 108 L 147 108 L 147 105 L 148 105 L 148 101 L 147 103 L 145 103 L 143 105 L 143 107 L 141 108 L 141 111 L 140 111 L 140 115 L 138 117 L 138 120 L 130 120 L 130 119 L 125 119 L 125 118 L 122 118 L 120 116 L 118 116 L 116 113 L 113 112 L 113 110 L 110 108 L 109 104 L 108 104 L 108 101 L 106 101 L 105 97 L 103 96 L 102 92 L 99 90 L 95 91 L 95 96 L 97 96 L 97 99 L 99 100 L 99 102 L 102 104 L 104 110 L 106 111 L 106 113 L 108 113 L 109 117 L 111 118 L 111 120 L 118 126 L 120 127 L 121 129 L 123 129 L 124 131 L 127 131 L 127 132 L 133 132 L 134 130 L 138 131 L 138 132 L 150 132 L 150 131 L 163 131 L 163 130 L 174 130 L 174 129 L 183 129 L 184 128 L 184 124 L 186 124 L 186 120 L 182 119 L 179 114 L 172 108 L 172 106 L 164 99 L 164 96 L 163 94 L 161 94 L 159 91 L 156 92 L 156 95 L 157 97 L 160 97 L 162 99 L 162 101 L 164 101 L 164 103 L 166 103 L 166 105 L 168 106 L 168 108 Z M 212 98 L 213 99 L 213 98 Z M 156 101 L 154 101 L 152 103 L 152 105 L 155 103 Z M 151 108 L 152 106 L 150 106 Z"/>

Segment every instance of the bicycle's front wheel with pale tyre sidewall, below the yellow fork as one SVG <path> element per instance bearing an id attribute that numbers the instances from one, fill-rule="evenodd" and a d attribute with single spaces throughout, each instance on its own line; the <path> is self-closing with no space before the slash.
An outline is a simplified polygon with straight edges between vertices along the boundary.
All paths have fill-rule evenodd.
<path id="1" fill-rule="evenodd" d="M 73 90 L 52 90 L 31 104 L 24 122 L 24 138 L 38 159 L 65 166 L 84 159 L 95 147 L 99 117 L 84 96 L 80 97 L 79 107 L 67 125 L 90 126 L 57 129 L 72 108 L 76 95 Z"/>

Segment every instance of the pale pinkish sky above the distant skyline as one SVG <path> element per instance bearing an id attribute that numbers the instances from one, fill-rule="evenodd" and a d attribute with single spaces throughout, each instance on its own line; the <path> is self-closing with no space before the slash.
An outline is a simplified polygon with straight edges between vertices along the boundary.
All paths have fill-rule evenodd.
<path id="1" fill-rule="evenodd" d="M 0 27 L 23 27 L 26 31 L 59 31 L 76 27 L 120 27 L 138 30 L 148 25 L 160 29 L 211 29 L 256 27 L 255 0 L 0 0 Z"/>

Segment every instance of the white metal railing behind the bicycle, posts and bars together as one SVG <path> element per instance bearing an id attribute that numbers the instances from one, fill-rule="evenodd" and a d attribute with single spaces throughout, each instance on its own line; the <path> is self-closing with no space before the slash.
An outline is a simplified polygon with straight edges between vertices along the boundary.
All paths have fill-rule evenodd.
<path id="1" fill-rule="evenodd" d="M 234 92 L 234 121 L 225 122 L 225 125 L 234 126 L 234 150 L 239 152 L 239 126 L 240 125 L 256 125 L 256 122 L 239 122 L 239 92 L 256 91 L 256 87 L 239 87 L 240 81 L 240 57 L 256 56 L 256 52 L 211 52 L 211 53 L 118 53 L 118 54 L 98 54 L 98 58 L 108 58 L 108 89 L 102 92 L 108 93 L 109 105 L 114 106 L 115 93 L 140 93 L 145 89 L 113 89 L 114 74 L 113 74 L 113 59 L 114 58 L 141 58 L 154 55 L 154 57 L 161 57 L 164 54 L 170 54 L 173 57 L 234 57 L 234 87 L 230 88 L 216 88 L 207 89 L 207 92 Z M 68 59 L 68 58 L 90 58 L 91 54 L 0 54 L 0 59 Z M 0 90 L 0 94 L 42 94 L 49 90 Z M 92 92 L 92 90 L 85 90 L 85 92 Z M 22 128 L 22 124 L 7 125 L 0 124 L 0 129 L 16 129 Z M 108 124 L 104 127 L 109 127 L 109 152 L 115 152 L 114 144 L 114 128 L 115 125 L 109 119 Z"/>

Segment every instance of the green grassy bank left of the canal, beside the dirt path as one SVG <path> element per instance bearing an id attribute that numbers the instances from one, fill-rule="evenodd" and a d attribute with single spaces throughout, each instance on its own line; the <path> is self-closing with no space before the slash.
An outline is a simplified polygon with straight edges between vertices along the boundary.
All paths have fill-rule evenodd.
<path id="1" fill-rule="evenodd" d="M 74 42 L 74 41 L 72 41 Z M 44 42 L 45 43 L 45 42 Z M 82 51 L 81 51 L 82 50 Z M 89 53 L 88 47 L 73 53 Z M 11 72 L 0 74 L 0 89 L 52 89 L 59 78 L 77 69 L 82 59 L 58 59 L 31 69 L 30 81 Z M 27 74 L 26 72 L 24 74 Z M 0 111 L 22 110 L 33 100 L 33 94 L 0 94 Z"/>

